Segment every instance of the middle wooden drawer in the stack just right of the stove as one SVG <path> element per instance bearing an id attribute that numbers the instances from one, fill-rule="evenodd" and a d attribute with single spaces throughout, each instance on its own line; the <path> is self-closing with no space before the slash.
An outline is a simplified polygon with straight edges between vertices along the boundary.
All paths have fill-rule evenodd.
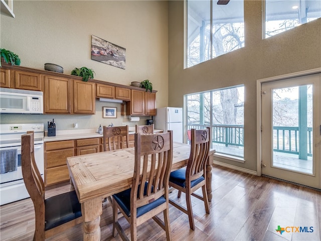
<path id="1" fill-rule="evenodd" d="M 67 165 L 67 157 L 74 156 L 74 149 L 46 152 L 46 168 Z"/>

